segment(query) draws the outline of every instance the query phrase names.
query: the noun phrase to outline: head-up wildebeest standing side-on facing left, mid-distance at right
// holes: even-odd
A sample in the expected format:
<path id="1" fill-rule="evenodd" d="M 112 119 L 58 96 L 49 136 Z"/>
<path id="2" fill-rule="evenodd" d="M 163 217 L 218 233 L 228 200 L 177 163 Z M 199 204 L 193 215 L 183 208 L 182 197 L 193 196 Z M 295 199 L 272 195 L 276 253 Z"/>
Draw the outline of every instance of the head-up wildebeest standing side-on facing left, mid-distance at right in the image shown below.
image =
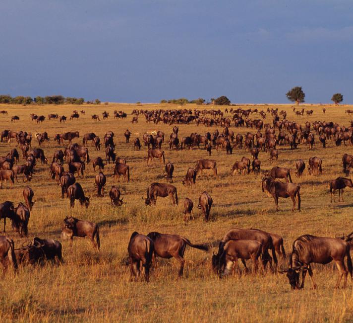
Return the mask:
<path id="1" fill-rule="evenodd" d="M 276 211 L 278 211 L 278 198 L 290 197 L 293 201 L 292 212 L 295 209 L 295 200 L 298 203 L 298 211 L 300 211 L 300 186 L 294 183 L 283 183 L 279 180 L 273 179 L 270 176 L 262 178 L 262 191 L 269 197 L 273 197 L 276 203 Z"/>

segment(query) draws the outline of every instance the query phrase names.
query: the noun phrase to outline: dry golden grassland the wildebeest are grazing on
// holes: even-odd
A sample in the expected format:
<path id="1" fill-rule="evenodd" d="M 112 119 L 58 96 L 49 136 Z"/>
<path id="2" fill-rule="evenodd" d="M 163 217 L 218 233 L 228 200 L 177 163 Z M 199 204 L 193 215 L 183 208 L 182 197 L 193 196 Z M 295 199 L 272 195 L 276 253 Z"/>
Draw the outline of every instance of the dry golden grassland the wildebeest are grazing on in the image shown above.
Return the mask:
<path id="1" fill-rule="evenodd" d="M 305 106 L 313 109 L 312 116 L 298 118 L 290 105 L 276 105 L 287 111 L 287 119 L 304 124 L 315 120 L 334 121 L 340 125 L 350 126 L 350 117 L 345 110 L 350 106 L 326 106 L 326 114 L 322 106 Z M 195 108 L 187 105 L 186 108 Z M 267 106 L 256 106 L 259 110 Z M 272 106 L 270 106 L 272 107 Z M 318 289 L 312 291 L 311 281 L 307 277 L 304 290 L 291 291 L 284 275 L 268 272 L 264 276 L 250 274 L 234 275 L 220 280 L 211 269 L 212 251 L 216 251 L 217 242 L 231 228 L 258 228 L 277 233 L 284 238 L 286 252 L 291 250 L 292 242 L 302 234 L 334 237 L 337 234 L 353 231 L 353 193 L 345 190 L 345 202 L 330 203 L 328 181 L 342 175 L 341 159 L 344 153 L 352 154 L 352 146 L 336 147 L 328 141 L 326 149 L 321 148 L 315 136 L 313 151 L 304 144 L 291 151 L 288 146 L 278 146 L 280 150 L 278 162 L 272 165 L 268 155 L 260 152 L 259 160 L 262 169 L 269 170 L 274 165 L 292 169 L 293 181 L 300 184 L 301 212 L 291 212 L 290 199 L 280 199 L 280 211 L 275 212 L 273 199 L 261 190 L 261 175 L 230 175 L 231 167 L 242 156 L 250 158 L 243 149 L 235 149 L 233 155 L 225 151 L 212 150 L 211 159 L 217 161 L 218 176 L 198 176 L 196 188 L 186 188 L 181 179 L 197 159 L 208 158 L 203 149 L 190 151 L 170 151 L 164 143 L 162 148 L 166 154 L 166 162 L 174 163 L 174 185 L 178 190 L 179 206 L 172 207 L 169 198 L 159 198 L 157 206 L 146 207 L 141 197 L 146 196 L 147 186 L 155 181 L 166 182 L 164 165 L 154 160 L 147 166 L 144 158 L 147 148 L 133 151 L 135 133 L 142 135 L 145 131 L 162 130 L 169 138 L 173 126 L 165 124 L 147 124 L 143 115 L 137 124 L 131 124 L 133 109 L 177 108 L 173 105 L 144 104 L 109 104 L 99 106 L 8 106 L 0 105 L 0 110 L 8 111 L 8 115 L 0 115 L 0 129 L 25 130 L 32 132 L 47 131 L 50 138 L 57 133 L 77 130 L 80 138 L 73 142 L 82 144 L 82 136 L 88 132 L 97 134 L 103 141 L 104 134 L 111 130 L 115 133 L 117 156 L 125 158 L 130 166 L 130 183 L 116 183 L 122 192 L 124 203 L 113 208 L 108 196 L 113 184 L 114 165 L 107 165 L 104 173 L 108 177 L 105 197 L 98 198 L 93 186 L 94 176 L 92 164 L 86 165 L 84 178 L 77 178 L 86 194 L 92 195 L 90 207 L 86 210 L 76 201 L 75 208 L 69 208 L 69 200 L 61 199 L 60 187 L 49 178 L 49 164 L 53 152 L 63 149 L 51 140 L 43 145 L 48 165 L 36 166 L 36 174 L 29 185 L 33 188 L 37 201 L 29 222 L 27 239 L 15 235 L 8 221 L 7 235 L 14 239 L 15 245 L 30 241 L 33 237 L 53 238 L 60 241 L 63 218 L 74 216 L 87 219 L 100 226 L 101 251 L 93 251 L 87 239 L 74 238 L 73 253 L 68 242 L 63 243 L 64 264 L 62 266 L 23 267 L 14 276 L 7 273 L 0 280 L 0 317 L 1 321 L 18 320 L 23 322 L 54 321 L 135 321 L 135 322 L 348 322 L 353 314 L 352 282 L 346 290 L 335 290 L 337 270 L 333 264 L 313 265 Z M 203 109 L 204 107 L 202 107 Z M 211 108 L 206 106 L 205 108 Z M 220 107 L 224 111 L 225 107 Z M 60 124 L 59 120 L 45 120 L 43 124 L 32 122 L 29 114 L 47 116 L 49 113 L 69 116 L 73 109 L 86 111 L 77 121 Z M 114 110 L 127 113 L 127 120 L 113 118 Z M 107 110 L 108 120 L 94 122 L 91 115 Z M 12 115 L 20 116 L 20 121 L 10 122 Z M 227 114 L 225 114 L 227 116 Z M 229 116 L 231 116 L 229 114 Z M 250 118 L 259 119 L 253 114 Z M 282 118 L 281 118 L 282 119 Z M 267 114 L 265 122 L 271 122 Z M 178 125 L 179 138 L 189 136 L 192 132 L 213 133 L 216 127 Z M 125 143 L 123 133 L 126 129 L 132 132 L 130 143 Z M 222 128 L 218 127 L 220 132 Z M 235 134 L 244 135 L 247 131 L 255 133 L 255 129 L 230 127 Z M 34 136 L 33 136 L 34 137 Z M 5 156 L 17 144 L 0 144 L 0 156 Z M 35 138 L 32 147 L 38 147 Z M 20 149 L 16 147 L 19 152 Z M 96 152 L 89 144 L 90 158 L 105 158 L 104 144 L 101 151 Z M 294 161 L 302 158 L 305 163 L 309 157 L 317 156 L 323 161 L 323 174 L 304 175 L 297 179 L 294 175 Z M 22 159 L 20 159 L 22 163 Z M 65 170 L 67 164 L 64 165 Z M 23 201 L 22 190 L 28 183 L 15 183 L 13 189 L 4 184 L 0 190 L 0 201 L 11 200 L 18 204 Z M 198 197 L 207 190 L 213 198 L 211 221 L 205 223 L 197 209 Z M 182 221 L 183 198 L 189 197 L 194 203 L 195 221 L 184 224 Z M 0 223 L 2 230 L 2 222 Z M 178 263 L 161 259 L 160 265 L 152 271 L 150 283 L 130 283 L 129 268 L 124 265 L 127 255 L 127 244 L 133 231 L 147 234 L 151 231 L 174 233 L 188 238 L 193 243 L 210 243 L 214 247 L 204 252 L 187 247 L 185 252 L 184 277 L 177 279 Z M 279 259 L 280 266 L 285 267 L 284 260 Z M 242 266 L 241 266 L 242 268 Z"/>

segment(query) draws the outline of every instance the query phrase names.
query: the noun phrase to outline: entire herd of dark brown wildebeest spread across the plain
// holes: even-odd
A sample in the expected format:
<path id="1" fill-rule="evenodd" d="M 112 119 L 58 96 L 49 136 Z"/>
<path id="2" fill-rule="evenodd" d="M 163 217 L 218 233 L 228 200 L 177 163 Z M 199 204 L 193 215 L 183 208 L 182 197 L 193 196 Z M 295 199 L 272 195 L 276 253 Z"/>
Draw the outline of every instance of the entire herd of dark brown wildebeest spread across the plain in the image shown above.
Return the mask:
<path id="1" fill-rule="evenodd" d="M 325 113 L 323 108 L 322 112 Z M 349 112 L 347 112 L 349 111 Z M 350 110 L 346 113 L 350 114 Z M 304 115 L 304 108 L 299 110 L 294 107 L 295 117 L 299 118 Z M 7 114 L 7 111 L 0 111 L 1 114 Z M 224 113 L 228 117 L 224 116 Z M 77 120 L 85 111 L 73 111 L 70 120 Z M 103 120 L 109 118 L 109 113 L 104 111 Z M 312 115 L 313 110 L 306 111 L 307 115 Z M 231 117 L 229 117 L 229 115 Z M 261 118 L 254 118 L 260 116 Z M 266 123 L 267 119 L 272 122 Z M 45 116 L 30 115 L 33 122 L 43 122 Z M 127 115 L 123 111 L 114 111 L 114 117 L 117 119 L 126 119 Z M 251 118 L 250 118 L 251 117 Z M 59 119 L 60 123 L 65 122 L 66 116 L 58 114 L 49 114 L 49 120 Z M 92 115 L 94 121 L 100 122 L 99 116 Z M 268 108 L 267 111 L 258 111 L 258 109 L 242 109 L 242 108 L 226 108 L 225 112 L 220 109 L 215 110 L 198 110 L 198 109 L 158 109 L 158 110 L 133 110 L 132 123 L 137 123 L 145 119 L 146 123 L 153 123 L 155 127 L 164 123 L 172 127 L 172 133 L 167 140 L 165 133 L 162 131 L 146 132 L 142 136 L 144 146 L 147 148 L 147 157 L 145 161 L 149 165 L 153 159 L 159 159 L 160 163 L 165 164 L 165 152 L 162 149 L 163 143 L 168 141 L 170 150 L 190 150 L 204 149 L 208 156 L 212 152 L 226 152 L 231 155 L 234 149 L 242 150 L 249 155 L 249 158 L 242 157 L 240 161 L 235 161 L 231 168 L 230 175 L 246 176 L 250 172 L 262 174 L 262 191 L 275 201 L 276 210 L 278 210 L 278 199 L 290 197 L 293 202 L 292 211 L 300 211 L 300 186 L 293 183 L 291 170 L 286 167 L 274 166 L 270 171 L 261 170 L 261 161 L 258 159 L 259 152 L 266 152 L 269 160 L 278 161 L 278 146 L 288 146 L 291 150 L 297 149 L 298 145 L 306 145 L 308 151 L 314 149 L 316 140 L 318 139 L 322 148 L 326 148 L 327 142 L 334 142 L 336 146 L 342 143 L 346 146 L 353 145 L 353 122 L 346 127 L 335 122 L 306 121 L 305 124 L 300 122 L 289 121 L 286 111 L 278 111 L 278 108 Z M 11 121 L 19 120 L 18 116 L 12 116 Z M 104 122 L 102 120 L 102 122 Z M 180 124 L 196 124 L 204 125 L 210 130 L 204 135 L 191 133 L 190 136 L 179 137 L 178 125 Z M 246 129 L 246 134 L 235 134 L 231 127 L 236 129 Z M 222 132 L 218 131 L 221 127 Z M 129 143 L 131 131 L 128 129 L 122 134 L 126 143 Z M 133 150 L 141 150 L 141 141 L 139 133 L 133 141 Z M 78 131 L 70 131 L 61 134 L 53 134 L 50 138 L 47 132 L 35 133 L 35 140 L 38 142 L 39 148 L 32 148 L 32 135 L 26 131 L 10 131 L 1 132 L 1 143 L 3 145 L 16 143 L 17 148 L 10 149 L 6 156 L 0 157 L 0 181 L 1 188 L 3 181 L 10 181 L 11 186 L 18 176 L 21 176 L 24 182 L 30 182 L 35 175 L 35 168 L 38 161 L 41 164 L 47 164 L 48 159 L 42 148 L 49 140 L 54 140 L 58 145 L 64 145 L 65 149 L 55 151 L 49 167 L 50 177 L 53 181 L 57 181 L 61 188 L 61 197 L 65 196 L 69 199 L 70 207 L 74 207 L 75 200 L 78 200 L 82 206 L 89 207 L 91 196 L 87 196 L 76 177 L 83 177 L 86 164 L 92 162 L 93 169 L 99 168 L 99 172 L 95 176 L 94 186 L 97 190 L 97 196 L 104 196 L 104 187 L 107 183 L 107 177 L 104 174 L 104 166 L 109 163 L 115 163 L 114 181 L 120 181 L 120 177 L 126 182 L 130 181 L 130 167 L 126 160 L 118 157 L 116 153 L 116 144 L 114 142 L 115 134 L 113 131 L 107 131 L 103 137 L 105 158 L 97 157 L 91 161 L 89 157 L 88 142 L 92 143 L 92 147 L 96 151 L 101 150 L 101 139 L 95 133 L 86 133 L 83 135 L 82 145 L 72 143 L 74 138 L 79 138 Z M 22 164 L 19 163 L 20 154 L 22 152 Z M 223 153 L 222 153 L 223 154 Z M 67 164 L 66 170 L 64 164 Z M 316 156 L 310 157 L 307 163 L 299 159 L 295 162 L 295 175 L 300 177 L 305 168 L 310 175 L 319 175 L 322 173 L 323 160 Z M 344 154 L 342 157 L 344 176 L 349 176 L 350 169 L 353 168 L 353 156 Z M 178 204 L 177 188 L 172 185 L 174 164 L 168 162 L 165 164 L 167 183 L 151 183 L 147 187 L 146 197 L 142 197 L 145 205 L 155 205 L 158 197 L 170 197 L 173 206 Z M 217 176 L 217 163 L 212 159 L 201 159 L 196 161 L 194 167 L 186 170 L 185 177 L 182 179 L 182 185 L 192 187 L 196 183 L 197 174 L 202 174 L 204 170 L 211 170 L 214 176 Z M 284 181 L 281 181 L 284 179 Z M 352 180 L 346 177 L 338 177 L 329 183 L 331 194 L 331 202 L 334 199 L 335 192 L 339 192 L 339 201 L 342 198 L 345 187 L 353 187 Z M 5 201 L 0 204 L 0 220 L 4 221 L 4 232 L 6 218 L 11 221 L 12 228 L 21 237 L 28 234 L 28 222 L 30 214 L 34 206 L 34 192 L 31 187 L 27 186 L 23 190 L 24 204 L 20 202 L 17 207 L 11 201 Z M 122 205 L 120 190 L 113 185 L 109 191 L 111 205 L 119 207 Z M 210 218 L 213 199 L 211 195 L 204 191 L 199 196 L 198 208 L 202 211 L 205 221 Z M 183 220 L 185 222 L 194 219 L 193 202 L 190 198 L 184 199 Z M 95 223 L 79 220 L 74 217 L 66 217 L 63 220 L 61 232 L 62 239 L 69 239 L 72 247 L 73 237 L 88 237 L 93 247 L 99 250 L 100 236 L 99 228 Z M 313 287 L 316 283 L 313 278 L 311 263 L 326 264 L 335 261 L 339 277 L 336 287 L 340 286 L 342 277 L 344 278 L 344 287 L 347 285 L 348 273 L 352 277 L 352 260 L 350 255 L 351 244 L 353 245 L 353 233 L 347 236 L 326 238 L 315 237 L 311 235 L 303 235 L 297 238 L 293 243 L 293 249 L 289 257 L 289 268 L 286 272 L 291 287 L 300 289 L 304 286 L 306 272 L 309 272 L 313 281 Z M 208 244 L 193 244 L 188 239 L 172 234 L 161 234 L 151 232 L 147 236 L 134 232 L 128 243 L 128 263 L 131 269 L 131 280 L 137 280 L 140 276 L 141 267 L 144 268 L 145 280 L 149 280 L 149 272 L 152 261 L 156 257 L 171 258 L 175 257 L 180 262 L 179 276 L 183 274 L 184 267 L 184 251 L 186 245 L 207 251 Z M 30 243 L 23 244 L 19 248 L 15 248 L 12 239 L 6 236 L 0 236 L 0 259 L 6 269 L 8 264 L 12 264 L 14 270 L 17 270 L 19 264 L 38 264 L 44 260 L 53 260 L 62 262 L 62 245 L 53 239 L 34 238 Z M 71 249 L 72 250 L 72 249 Z M 270 255 L 271 250 L 271 255 Z M 277 268 L 277 255 L 286 257 L 283 238 L 274 233 L 264 232 L 258 229 L 232 229 L 219 243 L 218 252 L 212 256 L 212 268 L 220 276 L 223 277 L 230 273 L 233 265 L 237 267 L 237 260 L 240 259 L 246 268 L 245 260 L 252 260 L 252 270 L 254 273 L 258 271 L 260 265 L 261 271 L 264 272 L 270 268 Z M 345 264 L 346 259 L 346 264 Z M 299 284 L 299 276 L 301 273 L 301 284 Z"/>

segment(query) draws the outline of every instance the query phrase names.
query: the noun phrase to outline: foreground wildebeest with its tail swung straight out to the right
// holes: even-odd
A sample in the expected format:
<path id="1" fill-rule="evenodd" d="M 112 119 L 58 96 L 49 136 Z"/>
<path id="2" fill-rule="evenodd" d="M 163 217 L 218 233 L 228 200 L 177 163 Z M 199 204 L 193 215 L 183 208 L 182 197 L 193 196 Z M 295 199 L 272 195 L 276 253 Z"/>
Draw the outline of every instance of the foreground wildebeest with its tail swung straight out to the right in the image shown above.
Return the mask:
<path id="1" fill-rule="evenodd" d="M 186 245 L 190 247 L 207 251 L 208 247 L 202 244 L 193 244 L 188 239 L 179 235 L 161 234 L 159 232 L 150 232 L 147 237 L 154 242 L 154 257 L 170 259 L 172 257 L 180 263 L 178 276 L 181 277 L 184 270 L 184 252 Z"/>

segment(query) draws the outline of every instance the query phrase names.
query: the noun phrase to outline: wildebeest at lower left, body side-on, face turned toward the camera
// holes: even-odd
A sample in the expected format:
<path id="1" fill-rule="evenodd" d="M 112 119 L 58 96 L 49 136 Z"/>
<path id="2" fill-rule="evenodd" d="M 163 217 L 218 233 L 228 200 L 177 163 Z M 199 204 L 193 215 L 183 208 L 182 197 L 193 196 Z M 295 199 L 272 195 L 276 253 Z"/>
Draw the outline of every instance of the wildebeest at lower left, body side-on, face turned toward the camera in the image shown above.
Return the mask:
<path id="1" fill-rule="evenodd" d="M 73 217 L 65 217 L 61 238 L 63 240 L 70 239 L 71 252 L 73 237 L 88 237 L 92 242 L 93 249 L 97 248 L 99 250 L 101 247 L 99 228 L 97 224 L 90 221 L 78 220 Z"/>

